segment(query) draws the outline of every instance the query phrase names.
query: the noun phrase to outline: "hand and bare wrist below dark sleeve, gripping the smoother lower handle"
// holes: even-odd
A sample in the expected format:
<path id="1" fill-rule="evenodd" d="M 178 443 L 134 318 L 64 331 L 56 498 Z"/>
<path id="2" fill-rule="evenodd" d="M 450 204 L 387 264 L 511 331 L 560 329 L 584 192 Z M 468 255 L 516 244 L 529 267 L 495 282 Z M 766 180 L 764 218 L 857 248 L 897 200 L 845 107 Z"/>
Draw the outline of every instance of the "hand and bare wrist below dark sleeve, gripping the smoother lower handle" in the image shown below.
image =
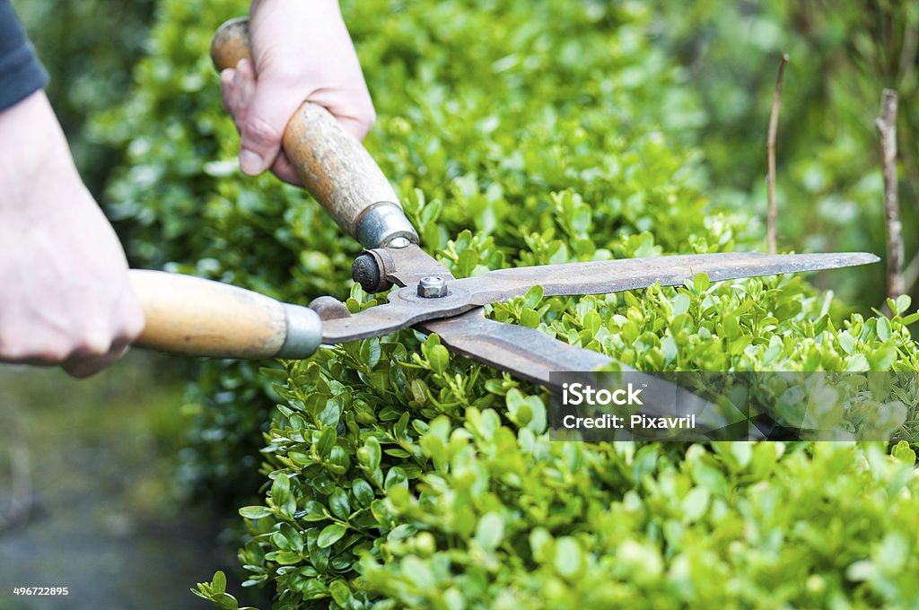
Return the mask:
<path id="1" fill-rule="evenodd" d="M 143 330 L 118 237 L 43 92 L 0 112 L 0 361 L 87 377 Z"/>

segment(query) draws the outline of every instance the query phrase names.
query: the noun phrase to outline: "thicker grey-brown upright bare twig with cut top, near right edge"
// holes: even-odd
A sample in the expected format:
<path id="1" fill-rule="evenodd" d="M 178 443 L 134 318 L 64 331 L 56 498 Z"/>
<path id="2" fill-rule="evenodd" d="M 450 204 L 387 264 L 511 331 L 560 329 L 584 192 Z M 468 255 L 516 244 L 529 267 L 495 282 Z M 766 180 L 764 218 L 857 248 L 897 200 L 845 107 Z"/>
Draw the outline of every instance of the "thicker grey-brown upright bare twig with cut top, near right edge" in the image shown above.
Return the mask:
<path id="1" fill-rule="evenodd" d="M 897 201 L 897 92 L 884 89 L 880 116 L 875 120 L 884 159 L 884 223 L 887 229 L 887 296 L 896 299 L 903 288 L 903 238 Z"/>

